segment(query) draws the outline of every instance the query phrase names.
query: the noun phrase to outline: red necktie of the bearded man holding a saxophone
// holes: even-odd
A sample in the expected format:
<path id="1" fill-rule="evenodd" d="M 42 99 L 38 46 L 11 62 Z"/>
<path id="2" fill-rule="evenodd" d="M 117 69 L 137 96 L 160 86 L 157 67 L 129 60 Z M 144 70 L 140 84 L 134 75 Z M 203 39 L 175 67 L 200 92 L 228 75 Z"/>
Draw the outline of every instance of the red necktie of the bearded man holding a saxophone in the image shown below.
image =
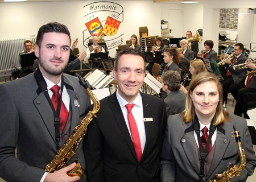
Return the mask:
<path id="1" fill-rule="evenodd" d="M 54 85 L 51 88 L 53 95 L 52 95 L 52 104 L 54 106 L 55 111 L 57 110 L 57 104 L 60 98 L 60 87 L 58 85 Z M 60 130 L 63 131 L 64 127 L 67 123 L 68 120 L 68 110 L 65 107 L 63 101 L 61 101 L 61 106 L 60 106 Z"/>

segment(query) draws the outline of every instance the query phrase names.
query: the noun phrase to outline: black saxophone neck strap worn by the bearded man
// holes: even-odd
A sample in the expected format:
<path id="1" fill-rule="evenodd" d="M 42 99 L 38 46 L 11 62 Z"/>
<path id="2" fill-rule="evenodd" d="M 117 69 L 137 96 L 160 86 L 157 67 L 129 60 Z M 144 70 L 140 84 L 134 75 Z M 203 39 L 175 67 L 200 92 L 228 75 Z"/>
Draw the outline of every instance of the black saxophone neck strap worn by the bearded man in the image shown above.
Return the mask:
<path id="1" fill-rule="evenodd" d="M 61 106 L 61 99 L 62 99 L 62 92 L 63 92 L 63 87 L 64 87 L 64 77 L 61 75 L 61 82 L 60 82 L 60 97 L 57 103 L 57 108 L 55 110 L 51 98 L 49 97 L 48 94 L 48 89 L 47 89 L 47 84 L 46 80 L 44 80 L 44 77 L 42 73 L 40 72 L 40 69 L 36 69 L 35 71 L 35 79 L 36 82 L 38 83 L 39 89 L 42 90 L 44 93 L 44 96 L 47 98 L 47 101 L 49 102 L 49 105 L 51 106 L 51 109 L 53 111 L 54 115 L 54 127 L 55 127 L 55 139 L 57 142 L 57 149 L 59 150 L 60 148 L 60 106 Z"/>

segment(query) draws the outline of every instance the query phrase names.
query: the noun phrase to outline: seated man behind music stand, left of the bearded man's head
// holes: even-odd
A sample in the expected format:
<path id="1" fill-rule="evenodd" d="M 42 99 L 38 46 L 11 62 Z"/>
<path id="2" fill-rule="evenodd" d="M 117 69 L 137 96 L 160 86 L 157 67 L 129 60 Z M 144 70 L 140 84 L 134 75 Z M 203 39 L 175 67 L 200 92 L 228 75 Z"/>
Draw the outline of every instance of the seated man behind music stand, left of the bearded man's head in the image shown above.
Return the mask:
<path id="1" fill-rule="evenodd" d="M 24 41 L 24 49 L 19 55 L 22 55 L 24 53 L 31 53 L 31 52 L 34 52 L 34 49 L 32 49 L 32 40 L 27 39 L 27 40 Z M 21 64 L 20 57 L 19 57 L 19 64 Z M 33 65 L 31 65 L 29 67 L 22 67 L 20 69 L 19 76 L 24 77 L 24 76 L 26 76 L 26 75 L 28 75 L 32 72 L 34 72 L 33 71 Z"/>

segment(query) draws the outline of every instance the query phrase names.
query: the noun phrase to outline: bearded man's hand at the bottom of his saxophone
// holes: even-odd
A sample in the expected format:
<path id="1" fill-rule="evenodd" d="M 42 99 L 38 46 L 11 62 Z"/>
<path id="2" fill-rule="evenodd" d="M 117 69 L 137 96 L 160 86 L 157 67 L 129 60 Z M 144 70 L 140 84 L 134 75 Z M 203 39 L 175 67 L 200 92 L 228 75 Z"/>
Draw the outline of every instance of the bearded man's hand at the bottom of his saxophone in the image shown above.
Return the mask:
<path id="1" fill-rule="evenodd" d="M 78 181 L 81 179 L 80 176 L 68 176 L 67 172 L 71 171 L 73 168 L 75 168 L 76 163 L 72 163 L 69 166 L 60 169 L 59 171 L 53 172 L 53 173 L 48 173 L 46 175 L 46 178 L 44 179 L 44 182 L 73 182 L 73 181 Z"/>

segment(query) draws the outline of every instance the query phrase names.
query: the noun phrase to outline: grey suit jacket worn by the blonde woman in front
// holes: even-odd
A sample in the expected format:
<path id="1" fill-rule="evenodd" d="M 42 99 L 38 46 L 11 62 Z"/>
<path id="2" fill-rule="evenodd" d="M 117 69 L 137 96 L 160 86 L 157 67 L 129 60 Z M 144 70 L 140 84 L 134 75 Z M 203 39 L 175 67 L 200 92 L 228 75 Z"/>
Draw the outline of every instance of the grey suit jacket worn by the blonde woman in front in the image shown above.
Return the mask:
<path id="1" fill-rule="evenodd" d="M 245 119 L 231 114 L 231 122 L 217 126 L 215 151 L 206 181 L 214 179 L 216 174 L 223 173 L 230 164 L 239 164 L 238 146 L 232 138 L 233 125 L 240 131 L 242 148 L 246 155 L 246 168 L 240 177 L 231 181 L 244 182 L 254 172 L 256 166 L 255 152 Z M 161 162 L 161 181 L 199 181 L 200 166 L 196 158 L 195 137 L 192 122 L 184 123 L 179 115 L 168 117 L 166 136 L 164 138 Z"/>

